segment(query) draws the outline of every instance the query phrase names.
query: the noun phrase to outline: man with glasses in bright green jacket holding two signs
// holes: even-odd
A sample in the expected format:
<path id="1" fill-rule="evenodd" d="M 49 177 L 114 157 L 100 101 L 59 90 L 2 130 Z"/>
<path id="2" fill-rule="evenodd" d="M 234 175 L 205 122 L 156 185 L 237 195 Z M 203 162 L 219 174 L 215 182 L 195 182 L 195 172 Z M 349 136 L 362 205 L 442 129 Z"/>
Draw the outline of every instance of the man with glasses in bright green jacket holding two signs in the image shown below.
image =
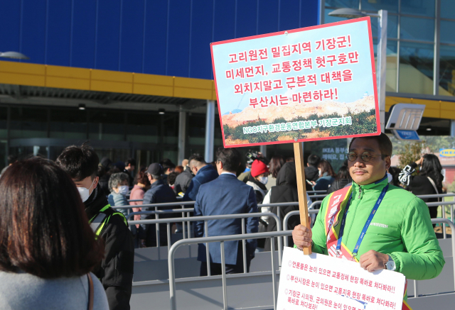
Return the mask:
<path id="1" fill-rule="evenodd" d="M 312 231 L 294 228 L 296 248 L 344 256 L 369 272 L 388 269 L 417 280 L 437 277 L 445 261 L 428 206 L 387 184 L 390 155 L 392 143 L 384 133 L 353 138 L 347 155 L 353 186 L 322 201 Z"/>

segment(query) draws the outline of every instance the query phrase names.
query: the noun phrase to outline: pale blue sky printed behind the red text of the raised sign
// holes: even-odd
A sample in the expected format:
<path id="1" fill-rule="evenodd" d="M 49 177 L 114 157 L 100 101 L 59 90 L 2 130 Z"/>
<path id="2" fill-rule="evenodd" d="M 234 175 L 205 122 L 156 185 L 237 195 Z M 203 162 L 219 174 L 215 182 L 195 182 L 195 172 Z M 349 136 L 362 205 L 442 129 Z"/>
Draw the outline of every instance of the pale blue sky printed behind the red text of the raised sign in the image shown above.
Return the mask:
<path id="1" fill-rule="evenodd" d="M 325 51 L 319 49 L 316 50 L 316 41 L 321 38 L 337 38 L 343 35 L 350 35 L 351 47 L 349 48 L 336 48 L 334 50 Z M 273 58 L 271 48 L 274 46 L 283 46 L 283 45 L 293 45 L 296 43 L 303 43 L 311 41 L 311 53 L 302 52 L 301 55 L 298 53 L 291 54 L 287 57 Z M 236 62 L 230 64 L 229 60 L 230 54 L 238 53 L 242 51 L 267 48 L 268 60 L 257 60 L 254 62 Z M 358 60 L 356 64 L 348 65 L 333 65 L 330 67 L 328 64 L 326 67 L 317 68 L 316 57 L 320 55 L 338 55 L 341 52 L 348 55 L 348 52 L 358 51 Z M 338 88 L 338 102 L 340 103 L 350 103 L 360 99 L 365 92 L 373 95 L 373 77 L 372 77 L 372 66 L 371 66 L 371 55 L 370 55 L 370 41 L 368 37 L 368 23 L 367 21 L 359 21 L 355 23 L 346 23 L 343 25 L 332 26 L 314 29 L 311 31 L 301 31 L 298 33 L 289 33 L 288 35 L 274 35 L 266 38 L 257 38 L 254 40 L 244 40 L 233 43 L 225 43 L 220 45 L 213 45 L 213 57 L 215 62 L 215 74 L 218 86 L 218 96 L 221 113 L 225 114 L 226 112 L 232 111 L 234 109 L 245 109 L 250 104 L 251 97 L 259 96 L 271 96 L 276 94 L 286 94 L 288 97 L 292 93 L 296 92 L 307 92 L 317 89 L 330 89 L 337 87 Z M 275 73 L 272 74 L 272 64 L 283 61 L 299 60 L 303 58 L 311 57 L 313 61 L 313 69 L 302 68 L 299 72 L 288 73 Z M 259 66 L 264 65 L 264 71 L 267 72 L 267 76 L 262 77 L 261 75 L 250 77 L 250 78 L 236 78 L 234 80 L 226 78 L 226 71 L 240 67 L 249 67 L 249 66 Z M 335 70 L 346 70 L 350 69 L 353 72 L 353 81 L 351 82 L 332 82 L 331 84 L 321 83 L 321 74 L 325 72 L 331 72 Z M 287 89 L 285 86 L 286 77 L 296 77 L 301 76 L 302 74 L 314 74 L 318 77 L 317 85 L 306 84 L 306 87 L 296 87 L 292 90 Z M 271 92 L 259 92 L 250 94 L 249 92 L 245 94 L 234 94 L 235 84 L 245 83 L 245 82 L 259 82 L 268 79 L 282 79 L 283 89 L 272 90 Z M 264 108 L 267 109 L 267 108 Z"/>

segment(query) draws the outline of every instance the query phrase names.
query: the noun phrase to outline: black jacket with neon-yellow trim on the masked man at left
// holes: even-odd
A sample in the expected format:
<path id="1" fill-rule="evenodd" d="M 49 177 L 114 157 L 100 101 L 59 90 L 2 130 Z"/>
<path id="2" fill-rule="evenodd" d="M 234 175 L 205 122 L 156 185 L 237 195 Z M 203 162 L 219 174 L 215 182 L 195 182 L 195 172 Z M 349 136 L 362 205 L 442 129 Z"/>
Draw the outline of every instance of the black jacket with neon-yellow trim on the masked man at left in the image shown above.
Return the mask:
<path id="1" fill-rule="evenodd" d="M 100 184 L 84 204 L 90 221 L 107 207 L 103 210 L 107 215 L 107 224 L 99 234 L 105 240 L 105 258 L 93 273 L 105 287 L 109 309 L 129 309 L 134 273 L 134 241 L 127 219 L 110 207 Z"/>

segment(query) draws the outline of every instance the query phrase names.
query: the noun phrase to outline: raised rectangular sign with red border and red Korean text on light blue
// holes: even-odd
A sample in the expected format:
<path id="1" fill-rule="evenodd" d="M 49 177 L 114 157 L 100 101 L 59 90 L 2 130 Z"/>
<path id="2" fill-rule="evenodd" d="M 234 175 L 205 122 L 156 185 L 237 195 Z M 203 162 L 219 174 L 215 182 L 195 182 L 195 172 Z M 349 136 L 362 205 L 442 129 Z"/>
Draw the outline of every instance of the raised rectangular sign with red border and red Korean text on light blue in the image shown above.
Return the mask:
<path id="1" fill-rule="evenodd" d="M 211 50 L 227 148 L 380 133 L 369 17 Z"/>

